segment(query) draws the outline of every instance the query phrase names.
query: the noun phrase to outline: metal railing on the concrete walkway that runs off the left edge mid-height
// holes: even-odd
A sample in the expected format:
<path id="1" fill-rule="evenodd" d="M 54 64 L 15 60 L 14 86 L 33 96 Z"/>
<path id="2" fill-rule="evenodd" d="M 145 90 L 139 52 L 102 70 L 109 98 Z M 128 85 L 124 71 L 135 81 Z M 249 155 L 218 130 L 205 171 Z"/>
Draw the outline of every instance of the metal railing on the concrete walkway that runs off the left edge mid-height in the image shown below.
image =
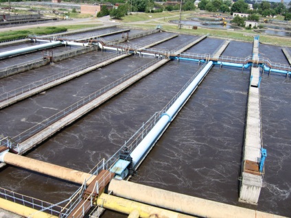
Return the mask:
<path id="1" fill-rule="evenodd" d="M 20 88 L 10 90 L 9 92 L 3 93 L 0 95 L 0 102 L 1 101 L 8 101 L 8 99 L 10 99 L 10 98 L 16 97 L 18 95 L 22 95 L 23 93 L 27 93 L 30 90 L 33 90 L 33 89 L 38 88 L 40 86 L 44 86 L 45 84 L 49 84 L 49 83 L 54 82 L 56 80 L 60 80 L 62 77 L 66 77 L 68 75 L 71 75 L 73 73 L 76 73 L 78 71 L 86 69 L 86 68 L 93 66 L 95 64 L 99 64 L 99 63 L 104 62 L 106 60 L 110 60 L 110 59 L 115 58 L 117 56 L 120 56 L 120 54 L 114 53 L 114 54 L 111 54 L 109 56 L 105 56 L 105 57 L 100 58 L 97 62 L 95 60 L 91 61 L 91 62 L 86 62 L 85 64 L 82 64 L 80 66 L 76 66 L 72 69 L 68 69 L 67 71 L 62 71 L 61 73 L 56 73 L 56 74 L 51 75 L 49 77 L 46 77 L 42 80 L 38 80 L 36 82 L 32 82 L 31 84 L 27 84 L 26 86 L 22 86 Z"/>

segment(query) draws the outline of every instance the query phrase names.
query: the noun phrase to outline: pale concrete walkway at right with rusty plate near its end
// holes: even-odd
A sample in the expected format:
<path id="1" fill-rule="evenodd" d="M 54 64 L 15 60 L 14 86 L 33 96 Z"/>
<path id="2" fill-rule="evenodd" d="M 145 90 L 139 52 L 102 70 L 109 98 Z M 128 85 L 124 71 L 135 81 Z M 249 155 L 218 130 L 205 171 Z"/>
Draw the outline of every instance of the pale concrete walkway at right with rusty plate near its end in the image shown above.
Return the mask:
<path id="1" fill-rule="evenodd" d="M 259 61 L 259 39 L 254 39 L 253 61 Z M 255 64 L 257 65 L 257 64 Z M 261 162 L 261 103 L 259 95 L 259 67 L 251 67 L 251 84 L 248 90 L 244 154 L 242 160 L 242 184 L 240 202 L 257 204 L 263 186 L 263 172 L 259 171 Z M 263 169 L 264 170 L 264 169 Z"/>

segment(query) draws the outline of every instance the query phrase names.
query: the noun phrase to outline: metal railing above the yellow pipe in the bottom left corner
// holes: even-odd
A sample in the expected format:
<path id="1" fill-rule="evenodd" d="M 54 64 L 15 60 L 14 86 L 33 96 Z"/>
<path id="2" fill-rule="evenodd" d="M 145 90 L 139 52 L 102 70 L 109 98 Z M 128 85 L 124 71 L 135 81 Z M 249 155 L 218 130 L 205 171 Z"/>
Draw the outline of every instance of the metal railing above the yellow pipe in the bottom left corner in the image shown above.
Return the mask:
<path id="1" fill-rule="evenodd" d="M 58 215 L 62 210 L 62 207 L 59 205 L 67 201 L 66 199 L 65 201 L 59 202 L 58 204 L 51 204 L 49 202 L 45 202 L 27 195 L 21 195 L 20 193 L 15 193 L 3 188 L 0 188 L 0 197 L 14 203 L 22 204 L 23 206 L 34 208 L 35 210 L 49 213 L 50 215 Z"/>

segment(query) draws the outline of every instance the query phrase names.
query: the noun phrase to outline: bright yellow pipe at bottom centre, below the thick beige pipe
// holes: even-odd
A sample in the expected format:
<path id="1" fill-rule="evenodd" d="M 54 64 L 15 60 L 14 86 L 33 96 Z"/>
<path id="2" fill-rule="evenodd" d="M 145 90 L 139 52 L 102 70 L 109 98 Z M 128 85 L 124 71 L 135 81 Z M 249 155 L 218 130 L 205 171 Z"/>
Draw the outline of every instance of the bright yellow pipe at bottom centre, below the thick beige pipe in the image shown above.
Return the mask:
<path id="1" fill-rule="evenodd" d="M 98 197 L 97 205 L 125 214 L 130 214 L 132 210 L 137 210 L 139 212 L 139 217 L 141 218 L 148 218 L 150 216 L 153 217 L 153 215 L 157 215 L 157 217 L 163 218 L 190 218 L 188 215 L 183 215 L 162 208 L 156 208 L 154 206 L 141 204 L 139 202 L 133 202 L 128 199 L 115 197 L 113 195 L 107 195 L 104 193 Z"/>

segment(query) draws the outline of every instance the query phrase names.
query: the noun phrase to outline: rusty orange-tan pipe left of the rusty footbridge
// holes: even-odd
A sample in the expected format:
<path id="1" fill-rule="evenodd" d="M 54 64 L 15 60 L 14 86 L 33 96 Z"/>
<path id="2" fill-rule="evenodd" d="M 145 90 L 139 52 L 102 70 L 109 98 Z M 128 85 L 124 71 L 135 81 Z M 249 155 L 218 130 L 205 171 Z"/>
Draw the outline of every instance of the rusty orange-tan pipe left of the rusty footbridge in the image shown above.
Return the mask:
<path id="1" fill-rule="evenodd" d="M 53 165 L 48 162 L 43 162 L 40 160 L 34 160 L 32 158 L 27 158 L 25 156 L 12 154 L 10 152 L 3 154 L 3 162 L 16 167 L 21 167 L 24 169 L 30 169 L 32 171 L 43 173 L 45 175 L 51 175 L 62 180 L 67 180 L 70 182 L 75 182 L 78 184 L 83 184 L 85 179 L 90 178 L 91 174 L 84 173 L 81 171 L 69 169 L 66 167 L 60 167 L 58 165 Z M 86 183 L 89 185 L 95 178 L 95 175 Z"/>

